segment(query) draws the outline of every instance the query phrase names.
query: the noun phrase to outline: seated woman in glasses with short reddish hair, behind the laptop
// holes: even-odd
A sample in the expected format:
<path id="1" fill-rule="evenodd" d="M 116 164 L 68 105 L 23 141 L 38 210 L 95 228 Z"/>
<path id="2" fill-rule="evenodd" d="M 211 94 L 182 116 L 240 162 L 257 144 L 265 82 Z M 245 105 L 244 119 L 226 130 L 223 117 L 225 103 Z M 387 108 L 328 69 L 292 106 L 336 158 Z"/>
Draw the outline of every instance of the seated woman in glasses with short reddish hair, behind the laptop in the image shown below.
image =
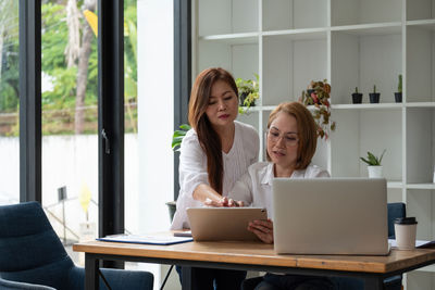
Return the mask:
<path id="1" fill-rule="evenodd" d="M 273 243 L 272 180 L 275 177 L 330 177 L 311 164 L 318 143 L 316 125 L 308 109 L 299 102 L 281 103 L 269 116 L 268 162 L 256 163 L 231 190 L 228 198 L 245 205 L 265 207 L 268 220 L 252 220 L 248 230 L 263 242 Z M 334 289 L 328 278 L 268 273 L 256 290 Z"/>

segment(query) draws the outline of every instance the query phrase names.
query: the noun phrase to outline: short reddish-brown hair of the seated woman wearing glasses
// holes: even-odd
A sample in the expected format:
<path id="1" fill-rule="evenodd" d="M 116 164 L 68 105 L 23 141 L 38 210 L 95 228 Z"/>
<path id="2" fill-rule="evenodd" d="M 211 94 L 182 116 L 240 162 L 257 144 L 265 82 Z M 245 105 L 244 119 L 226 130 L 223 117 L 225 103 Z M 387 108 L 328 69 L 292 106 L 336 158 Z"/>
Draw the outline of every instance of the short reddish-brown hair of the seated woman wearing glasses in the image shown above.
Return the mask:
<path id="1" fill-rule="evenodd" d="M 295 169 L 304 169 L 311 163 L 318 146 L 318 126 L 308 109 L 299 102 L 281 103 L 269 116 L 268 129 L 279 112 L 285 112 L 296 118 L 298 124 L 298 157 Z M 268 160 L 271 161 L 266 152 Z"/>

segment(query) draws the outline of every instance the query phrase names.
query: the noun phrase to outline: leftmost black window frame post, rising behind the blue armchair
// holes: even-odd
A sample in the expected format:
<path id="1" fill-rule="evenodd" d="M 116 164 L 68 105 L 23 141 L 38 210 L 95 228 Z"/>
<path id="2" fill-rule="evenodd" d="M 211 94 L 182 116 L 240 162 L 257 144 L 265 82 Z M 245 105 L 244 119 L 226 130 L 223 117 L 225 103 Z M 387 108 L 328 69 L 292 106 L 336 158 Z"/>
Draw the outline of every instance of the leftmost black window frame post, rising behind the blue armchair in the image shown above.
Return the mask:
<path id="1" fill-rule="evenodd" d="M 20 0 L 20 202 L 41 196 L 41 0 Z"/>

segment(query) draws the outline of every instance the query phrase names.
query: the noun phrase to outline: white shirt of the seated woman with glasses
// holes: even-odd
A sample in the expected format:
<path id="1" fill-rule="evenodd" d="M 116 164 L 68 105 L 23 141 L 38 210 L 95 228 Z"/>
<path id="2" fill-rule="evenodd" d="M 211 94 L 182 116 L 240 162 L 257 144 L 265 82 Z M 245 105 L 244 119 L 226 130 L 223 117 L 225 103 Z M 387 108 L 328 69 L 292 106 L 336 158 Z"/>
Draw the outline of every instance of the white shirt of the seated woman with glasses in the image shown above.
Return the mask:
<path id="1" fill-rule="evenodd" d="M 306 169 L 295 171 L 290 178 L 330 177 L 327 171 L 316 165 L 309 165 Z M 228 198 L 244 201 L 245 205 L 265 207 L 269 218 L 273 216 L 272 209 L 272 179 L 273 163 L 258 162 L 249 166 L 248 172 L 235 184 Z"/>

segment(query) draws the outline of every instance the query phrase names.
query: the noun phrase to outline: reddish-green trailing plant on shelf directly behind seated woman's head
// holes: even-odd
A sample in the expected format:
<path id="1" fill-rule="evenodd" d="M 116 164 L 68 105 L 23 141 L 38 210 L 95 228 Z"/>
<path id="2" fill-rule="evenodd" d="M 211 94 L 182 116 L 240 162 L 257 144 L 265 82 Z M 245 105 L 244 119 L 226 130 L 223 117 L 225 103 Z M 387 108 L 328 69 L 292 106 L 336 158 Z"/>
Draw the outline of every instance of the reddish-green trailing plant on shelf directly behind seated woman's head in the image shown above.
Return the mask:
<path id="1" fill-rule="evenodd" d="M 331 119 L 331 104 L 330 104 L 331 85 L 326 79 L 313 81 L 311 80 L 307 91 L 302 91 L 299 102 L 306 106 L 311 106 L 310 111 L 318 125 L 318 136 L 327 139 L 331 131 L 335 130 L 336 124 Z"/>

